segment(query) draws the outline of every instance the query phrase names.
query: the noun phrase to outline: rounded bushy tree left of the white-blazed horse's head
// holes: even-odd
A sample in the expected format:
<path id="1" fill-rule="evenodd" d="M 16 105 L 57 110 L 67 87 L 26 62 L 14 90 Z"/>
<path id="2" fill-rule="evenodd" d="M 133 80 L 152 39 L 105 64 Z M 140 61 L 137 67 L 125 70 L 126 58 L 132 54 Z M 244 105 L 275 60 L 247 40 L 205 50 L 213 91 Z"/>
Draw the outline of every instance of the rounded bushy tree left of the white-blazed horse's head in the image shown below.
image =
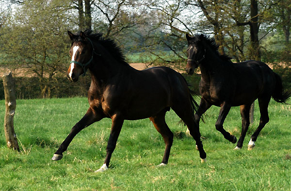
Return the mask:
<path id="1" fill-rule="evenodd" d="M 27 68 L 27 75 L 35 75 L 43 97 L 50 97 L 53 78 L 65 70 L 69 45 L 66 9 L 62 0 L 27 0 L 0 29 L 2 59 L 9 60 L 10 69 Z"/>

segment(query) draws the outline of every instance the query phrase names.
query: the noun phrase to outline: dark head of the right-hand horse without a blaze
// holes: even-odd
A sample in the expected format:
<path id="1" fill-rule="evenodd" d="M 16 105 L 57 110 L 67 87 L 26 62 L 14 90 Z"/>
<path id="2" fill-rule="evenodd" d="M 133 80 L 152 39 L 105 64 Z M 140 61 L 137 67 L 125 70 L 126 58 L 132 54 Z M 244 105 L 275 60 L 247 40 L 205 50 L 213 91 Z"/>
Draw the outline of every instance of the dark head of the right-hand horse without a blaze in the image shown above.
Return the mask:
<path id="1" fill-rule="evenodd" d="M 191 37 L 188 33 L 186 34 L 186 39 L 188 41 L 186 72 L 192 75 L 194 74 L 194 69 L 205 58 L 205 48 L 197 41 L 196 37 Z"/>

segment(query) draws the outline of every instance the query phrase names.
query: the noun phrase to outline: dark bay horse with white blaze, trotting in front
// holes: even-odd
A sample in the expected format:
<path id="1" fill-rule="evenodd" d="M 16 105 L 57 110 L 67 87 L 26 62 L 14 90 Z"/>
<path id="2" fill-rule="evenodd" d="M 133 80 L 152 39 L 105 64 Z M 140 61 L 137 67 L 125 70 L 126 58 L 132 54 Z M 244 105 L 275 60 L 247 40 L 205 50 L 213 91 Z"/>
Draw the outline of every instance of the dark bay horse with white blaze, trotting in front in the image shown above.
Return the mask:
<path id="1" fill-rule="evenodd" d="M 165 113 L 170 108 L 187 125 L 198 146 L 201 161 L 206 159 L 199 127 L 194 122 L 198 104 L 181 74 L 168 67 L 153 67 L 142 71 L 132 68 L 125 62 L 121 49 L 113 40 L 102 38 L 100 33 L 91 34 L 91 31 L 86 30 L 68 34 L 72 46 L 67 75 L 69 80 L 77 81 L 89 69 L 92 77 L 88 91 L 89 109 L 71 129 L 55 152 L 53 160 L 63 158 L 63 152 L 83 128 L 106 117 L 112 119 L 112 127 L 104 164 L 96 172 L 107 170 L 124 120 L 149 118 L 165 142 L 160 166 L 165 165 L 174 136 L 165 122 Z"/>

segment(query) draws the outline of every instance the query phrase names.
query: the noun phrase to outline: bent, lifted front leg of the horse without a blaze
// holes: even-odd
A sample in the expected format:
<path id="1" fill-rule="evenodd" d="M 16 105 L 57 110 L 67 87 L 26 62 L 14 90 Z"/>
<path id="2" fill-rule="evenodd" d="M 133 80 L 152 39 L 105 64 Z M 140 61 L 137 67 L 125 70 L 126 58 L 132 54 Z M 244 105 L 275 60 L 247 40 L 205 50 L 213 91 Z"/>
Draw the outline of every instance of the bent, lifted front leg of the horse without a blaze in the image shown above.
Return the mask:
<path id="1" fill-rule="evenodd" d="M 219 132 L 221 132 L 223 134 L 225 139 L 227 139 L 231 143 L 236 143 L 237 142 L 237 138 L 234 135 L 230 135 L 230 133 L 227 132 L 223 128 L 223 123 L 224 123 L 224 121 L 226 119 L 226 115 L 228 114 L 230 108 L 231 108 L 230 104 L 228 104 L 226 102 L 224 102 L 221 105 L 221 109 L 219 111 L 219 116 L 218 116 L 218 119 L 217 119 L 217 121 L 215 123 L 215 127 L 216 127 L 216 130 L 218 130 Z"/>

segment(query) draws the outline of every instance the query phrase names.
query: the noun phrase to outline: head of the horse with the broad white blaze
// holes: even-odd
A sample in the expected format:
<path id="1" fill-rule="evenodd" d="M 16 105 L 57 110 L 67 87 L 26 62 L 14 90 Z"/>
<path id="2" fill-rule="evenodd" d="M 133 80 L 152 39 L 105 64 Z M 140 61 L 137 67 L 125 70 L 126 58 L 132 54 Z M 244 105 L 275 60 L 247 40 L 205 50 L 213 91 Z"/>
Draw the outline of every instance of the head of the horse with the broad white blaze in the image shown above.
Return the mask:
<path id="1" fill-rule="evenodd" d="M 86 32 L 86 31 L 85 31 Z M 79 76 L 85 76 L 85 73 L 93 60 L 94 48 L 91 40 L 85 32 L 75 35 L 68 31 L 72 41 L 70 48 L 71 62 L 67 71 L 67 77 L 71 81 L 78 81 Z"/>

